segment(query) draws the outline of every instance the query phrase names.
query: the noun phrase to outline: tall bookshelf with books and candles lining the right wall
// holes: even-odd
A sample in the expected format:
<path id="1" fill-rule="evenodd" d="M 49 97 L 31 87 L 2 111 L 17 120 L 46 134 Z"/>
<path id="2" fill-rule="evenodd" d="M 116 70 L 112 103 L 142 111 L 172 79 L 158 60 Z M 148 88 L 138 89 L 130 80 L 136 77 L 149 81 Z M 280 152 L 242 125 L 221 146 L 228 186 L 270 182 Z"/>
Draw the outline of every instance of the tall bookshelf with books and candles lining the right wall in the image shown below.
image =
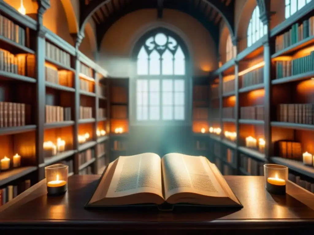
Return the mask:
<path id="1" fill-rule="evenodd" d="M 223 174 L 263 175 L 265 163 L 276 163 L 314 192 L 314 167 L 302 162 L 314 153 L 312 15 L 302 9 L 211 74 L 209 150 Z"/>

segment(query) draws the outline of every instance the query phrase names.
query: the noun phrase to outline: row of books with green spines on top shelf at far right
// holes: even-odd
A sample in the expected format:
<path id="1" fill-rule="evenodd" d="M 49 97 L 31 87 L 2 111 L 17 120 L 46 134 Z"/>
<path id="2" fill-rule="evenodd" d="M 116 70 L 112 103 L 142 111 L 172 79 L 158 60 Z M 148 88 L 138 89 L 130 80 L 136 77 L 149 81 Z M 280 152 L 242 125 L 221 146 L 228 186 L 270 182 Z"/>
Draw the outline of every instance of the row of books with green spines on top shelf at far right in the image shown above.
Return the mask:
<path id="1" fill-rule="evenodd" d="M 314 16 L 304 20 L 300 25 L 298 23 L 293 24 L 289 31 L 277 36 L 275 40 L 275 50 L 278 52 L 313 35 Z"/>

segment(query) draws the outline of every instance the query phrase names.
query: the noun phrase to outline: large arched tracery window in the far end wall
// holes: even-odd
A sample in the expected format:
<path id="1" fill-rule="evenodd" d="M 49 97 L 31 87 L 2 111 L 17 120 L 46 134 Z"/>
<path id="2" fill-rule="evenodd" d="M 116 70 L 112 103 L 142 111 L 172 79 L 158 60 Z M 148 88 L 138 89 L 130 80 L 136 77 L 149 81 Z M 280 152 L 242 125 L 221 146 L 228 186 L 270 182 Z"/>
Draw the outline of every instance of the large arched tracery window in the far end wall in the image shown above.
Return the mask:
<path id="1" fill-rule="evenodd" d="M 185 120 L 186 56 L 167 30 L 155 30 L 137 55 L 137 121 Z"/>

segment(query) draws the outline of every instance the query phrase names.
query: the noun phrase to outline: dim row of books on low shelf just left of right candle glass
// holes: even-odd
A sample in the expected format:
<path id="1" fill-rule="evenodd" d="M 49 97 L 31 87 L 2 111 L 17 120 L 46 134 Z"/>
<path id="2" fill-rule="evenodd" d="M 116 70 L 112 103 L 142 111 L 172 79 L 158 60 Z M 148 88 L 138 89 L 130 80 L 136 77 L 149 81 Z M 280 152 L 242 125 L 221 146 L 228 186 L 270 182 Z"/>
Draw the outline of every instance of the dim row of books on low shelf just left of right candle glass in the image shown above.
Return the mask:
<path id="1" fill-rule="evenodd" d="M 240 154 L 240 167 L 249 175 L 264 175 L 264 162 L 256 161 L 245 154 Z"/>

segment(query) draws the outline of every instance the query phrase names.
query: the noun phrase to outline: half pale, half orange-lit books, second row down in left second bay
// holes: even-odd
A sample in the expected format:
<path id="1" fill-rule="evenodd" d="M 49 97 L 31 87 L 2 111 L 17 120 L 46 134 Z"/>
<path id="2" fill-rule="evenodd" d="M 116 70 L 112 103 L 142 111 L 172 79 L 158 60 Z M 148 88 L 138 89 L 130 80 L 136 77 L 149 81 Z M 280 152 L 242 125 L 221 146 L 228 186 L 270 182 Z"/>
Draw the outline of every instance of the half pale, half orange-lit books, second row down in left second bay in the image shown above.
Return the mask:
<path id="1" fill-rule="evenodd" d="M 57 70 L 45 66 L 45 80 L 61 86 L 73 87 L 73 73 L 68 70 Z"/>

